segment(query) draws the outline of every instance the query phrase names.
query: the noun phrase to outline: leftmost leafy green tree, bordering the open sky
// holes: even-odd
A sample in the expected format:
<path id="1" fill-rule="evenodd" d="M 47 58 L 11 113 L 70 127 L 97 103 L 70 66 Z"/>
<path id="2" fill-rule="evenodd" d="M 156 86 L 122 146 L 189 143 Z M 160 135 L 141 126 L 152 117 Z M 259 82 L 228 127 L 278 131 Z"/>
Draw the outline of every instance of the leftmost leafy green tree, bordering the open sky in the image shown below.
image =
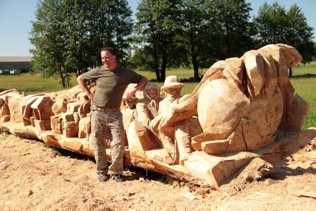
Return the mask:
<path id="1" fill-rule="evenodd" d="M 63 87 L 69 85 L 70 73 L 65 68 L 66 50 L 64 5 L 62 0 L 43 0 L 37 5 L 37 21 L 32 22 L 31 43 L 36 47 L 33 54 L 33 70 L 42 78 L 60 79 Z"/>

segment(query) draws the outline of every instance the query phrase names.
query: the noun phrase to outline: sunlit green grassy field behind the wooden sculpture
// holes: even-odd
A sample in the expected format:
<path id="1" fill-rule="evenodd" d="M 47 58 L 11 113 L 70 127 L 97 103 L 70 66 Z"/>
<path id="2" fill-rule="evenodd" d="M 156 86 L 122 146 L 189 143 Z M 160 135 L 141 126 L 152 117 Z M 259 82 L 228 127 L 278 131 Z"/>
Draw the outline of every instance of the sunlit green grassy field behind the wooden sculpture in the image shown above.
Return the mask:
<path id="1" fill-rule="evenodd" d="M 203 69 L 205 73 L 207 69 Z M 293 76 L 290 81 L 295 88 L 295 93 L 298 93 L 303 99 L 305 99 L 310 105 L 310 111 L 306 118 L 303 129 L 308 127 L 316 127 L 316 62 L 310 64 L 296 65 L 292 67 Z M 139 72 L 141 75 L 148 79 L 155 79 L 154 73 Z M 193 70 L 188 69 L 171 69 L 166 71 L 166 76 L 176 75 L 181 79 L 188 79 L 193 77 Z M 76 77 L 72 78 L 71 84 L 77 85 Z M 185 83 L 181 94 L 191 93 L 198 83 Z M 161 87 L 163 83 L 158 83 Z M 54 79 L 41 80 L 40 76 L 36 75 L 0 75 L 0 91 L 15 88 L 18 91 L 24 91 L 25 94 L 35 94 L 42 92 L 54 92 L 63 90 L 61 84 Z"/>

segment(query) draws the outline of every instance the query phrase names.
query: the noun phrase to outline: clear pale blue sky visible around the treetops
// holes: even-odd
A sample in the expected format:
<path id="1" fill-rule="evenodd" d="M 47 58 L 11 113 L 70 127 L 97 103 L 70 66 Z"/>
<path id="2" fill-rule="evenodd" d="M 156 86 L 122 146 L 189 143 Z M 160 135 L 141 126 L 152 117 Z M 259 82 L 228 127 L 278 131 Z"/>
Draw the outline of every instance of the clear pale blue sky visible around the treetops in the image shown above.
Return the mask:
<path id="1" fill-rule="evenodd" d="M 246 0 L 253 9 L 251 17 L 258 14 L 258 8 L 265 0 Z M 266 0 L 269 4 L 276 0 Z M 288 10 L 296 3 L 305 14 L 309 26 L 314 28 L 316 37 L 316 0 L 277 0 Z M 138 0 L 128 0 L 135 12 Z M 30 21 L 35 21 L 37 0 L 0 0 L 0 56 L 32 56 L 30 48 L 34 48 L 29 41 L 32 29 Z M 316 38 L 314 38 L 316 42 Z"/>

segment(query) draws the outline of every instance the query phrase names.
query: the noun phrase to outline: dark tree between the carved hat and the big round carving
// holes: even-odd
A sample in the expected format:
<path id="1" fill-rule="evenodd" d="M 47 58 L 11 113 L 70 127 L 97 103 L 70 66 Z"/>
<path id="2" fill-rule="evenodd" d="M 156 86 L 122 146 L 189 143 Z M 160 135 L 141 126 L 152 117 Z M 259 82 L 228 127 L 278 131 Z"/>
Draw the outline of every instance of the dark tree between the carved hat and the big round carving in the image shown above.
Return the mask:
<path id="1" fill-rule="evenodd" d="M 179 23 L 175 42 L 182 49 L 185 65 L 188 60 L 193 66 L 194 78 L 199 78 L 198 69 L 209 64 L 210 51 L 214 49 L 216 22 L 209 11 L 206 0 L 182 0 L 180 5 Z M 215 59 L 214 59 L 215 60 Z"/>

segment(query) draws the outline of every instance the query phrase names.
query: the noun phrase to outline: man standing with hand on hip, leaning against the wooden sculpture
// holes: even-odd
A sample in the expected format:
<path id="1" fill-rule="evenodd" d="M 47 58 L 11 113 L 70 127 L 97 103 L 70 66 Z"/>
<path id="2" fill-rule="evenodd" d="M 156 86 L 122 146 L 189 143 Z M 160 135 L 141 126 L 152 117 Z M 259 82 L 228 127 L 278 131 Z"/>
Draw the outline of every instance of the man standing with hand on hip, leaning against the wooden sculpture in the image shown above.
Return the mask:
<path id="1" fill-rule="evenodd" d="M 100 50 L 102 66 L 80 75 L 77 82 L 89 99 L 93 99 L 91 114 L 91 137 L 94 146 L 94 156 L 97 164 L 99 181 L 108 180 L 110 177 L 117 182 L 124 179 L 123 170 L 124 138 L 122 113 L 119 110 L 123 93 L 128 84 L 137 84 L 126 93 L 131 99 L 137 90 L 142 89 L 148 79 L 116 64 L 116 53 L 112 47 Z M 96 82 L 95 93 L 91 93 L 86 82 Z M 109 168 L 105 149 L 106 130 L 110 133 L 112 164 Z"/>

